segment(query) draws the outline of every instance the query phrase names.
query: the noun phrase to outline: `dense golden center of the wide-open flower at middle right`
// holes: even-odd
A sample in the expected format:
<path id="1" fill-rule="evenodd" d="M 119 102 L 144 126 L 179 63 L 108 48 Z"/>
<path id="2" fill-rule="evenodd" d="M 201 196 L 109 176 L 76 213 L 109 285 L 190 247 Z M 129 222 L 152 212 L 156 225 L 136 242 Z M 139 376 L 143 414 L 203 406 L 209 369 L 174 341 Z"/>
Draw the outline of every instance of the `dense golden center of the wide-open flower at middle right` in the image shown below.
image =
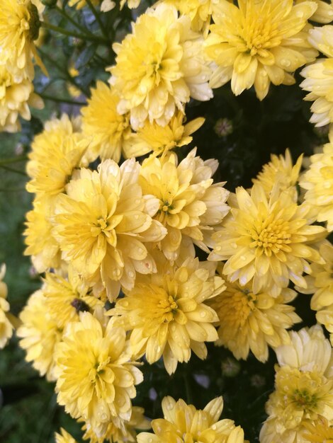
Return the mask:
<path id="1" fill-rule="evenodd" d="M 288 230 L 288 222 L 282 219 L 261 223 L 261 226 L 251 232 L 252 243 L 250 248 L 259 248 L 268 256 L 279 251 L 288 252 L 290 247 L 287 245 L 291 243 L 291 235 Z"/>

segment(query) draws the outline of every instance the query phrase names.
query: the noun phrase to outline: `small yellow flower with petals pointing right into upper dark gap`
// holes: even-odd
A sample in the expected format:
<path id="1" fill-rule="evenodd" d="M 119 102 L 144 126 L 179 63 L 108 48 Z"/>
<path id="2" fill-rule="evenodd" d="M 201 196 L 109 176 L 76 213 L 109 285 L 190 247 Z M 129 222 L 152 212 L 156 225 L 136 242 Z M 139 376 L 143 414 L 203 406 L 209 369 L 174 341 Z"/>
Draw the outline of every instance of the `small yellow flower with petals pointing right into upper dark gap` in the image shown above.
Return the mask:
<path id="1" fill-rule="evenodd" d="M 157 125 L 156 122 L 145 122 L 145 125 L 133 134 L 131 142 L 125 149 L 128 157 L 137 157 L 153 151 L 154 155 L 166 154 L 170 149 L 185 146 L 192 142 L 191 134 L 196 132 L 205 122 L 203 117 L 198 117 L 184 125 L 184 114 L 177 111 L 166 126 Z"/>

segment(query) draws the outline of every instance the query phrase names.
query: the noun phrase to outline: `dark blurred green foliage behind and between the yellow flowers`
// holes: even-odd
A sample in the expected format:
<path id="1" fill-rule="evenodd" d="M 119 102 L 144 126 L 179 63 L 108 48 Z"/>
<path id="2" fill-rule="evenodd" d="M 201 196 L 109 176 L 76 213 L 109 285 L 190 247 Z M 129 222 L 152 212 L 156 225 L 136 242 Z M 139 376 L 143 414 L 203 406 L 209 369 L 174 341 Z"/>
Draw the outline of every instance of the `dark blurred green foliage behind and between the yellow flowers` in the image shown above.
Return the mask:
<path id="1" fill-rule="evenodd" d="M 25 190 L 24 159 L 30 142 L 51 115 L 79 113 L 78 103 L 85 102 L 89 88 L 97 79 L 108 78 L 105 68 L 114 61 L 111 42 L 121 40 L 130 30 L 134 14 L 140 13 L 124 8 L 120 14 L 115 8 L 101 15 L 104 29 L 101 33 L 100 24 L 89 8 L 77 12 L 66 4 L 64 1 L 62 9 L 47 11 L 50 24 L 72 33 L 81 33 L 81 27 L 94 38 L 90 41 L 43 30 L 40 57 L 49 76 L 38 70 L 35 90 L 44 96 L 45 109 L 33 110 L 32 120 L 23 122 L 20 134 L 0 134 L 0 263 L 7 265 L 5 281 L 9 286 L 11 310 L 16 315 L 28 296 L 40 287 L 29 258 L 23 255 L 24 217 L 31 205 L 31 196 Z M 149 2 L 142 4 L 141 11 L 147 4 Z M 101 41 L 96 41 L 97 35 Z M 71 66 L 79 71 L 74 78 L 69 74 Z M 303 101 L 304 94 L 298 86 L 300 79 L 297 80 L 295 86 L 271 86 L 263 102 L 256 99 L 252 90 L 239 97 L 233 96 L 229 84 L 215 90 L 215 97 L 207 103 L 193 101 L 187 108 L 188 120 L 204 116 L 205 125 L 194 134 L 193 143 L 180 152 L 180 156 L 198 146 L 198 154 L 204 159 L 213 157 L 220 162 L 215 180 L 227 181 L 227 188 L 235 190 L 237 185 L 251 185 L 251 179 L 269 161 L 271 153 L 280 154 L 289 147 L 294 159 L 302 152 L 312 154 L 313 148 L 325 140 L 325 134 L 315 132 L 308 122 L 310 105 Z M 68 84 L 81 91 L 78 98 L 69 96 Z M 13 158 L 13 163 L 6 163 L 6 159 Z M 300 295 L 295 306 L 305 319 L 297 329 L 315 323 L 315 315 L 309 308 L 310 297 Z M 149 418 L 158 418 L 162 416 L 161 401 L 165 395 L 182 397 L 197 408 L 203 408 L 212 398 L 222 394 L 223 417 L 234 419 L 244 427 L 250 442 L 258 442 L 261 422 L 266 417 L 264 404 L 273 390 L 275 362 L 273 352 L 266 364 L 252 355 L 247 362 L 237 362 L 229 351 L 208 345 L 208 359 L 201 361 L 193 356 L 188 364 L 180 364 L 173 376 L 166 374 L 162 363 L 145 364 L 142 368 L 145 381 L 137 387 L 133 403 L 143 406 Z M 53 434 L 60 426 L 79 439 L 79 425 L 56 403 L 54 384 L 40 379 L 30 364 L 24 362 L 24 352 L 18 348 L 15 337 L 1 351 L 0 389 L 1 442 L 54 442 Z"/>

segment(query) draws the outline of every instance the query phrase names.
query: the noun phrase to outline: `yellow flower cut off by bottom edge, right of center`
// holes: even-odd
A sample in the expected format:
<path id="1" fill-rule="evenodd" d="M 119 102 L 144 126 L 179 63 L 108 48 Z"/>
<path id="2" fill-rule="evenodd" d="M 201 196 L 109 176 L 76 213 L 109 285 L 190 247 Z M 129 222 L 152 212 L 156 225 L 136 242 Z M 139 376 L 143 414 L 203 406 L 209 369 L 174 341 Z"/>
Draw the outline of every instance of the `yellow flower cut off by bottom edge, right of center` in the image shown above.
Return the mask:
<path id="1" fill-rule="evenodd" d="M 222 397 L 210 401 L 203 410 L 187 405 L 182 399 L 176 402 L 172 397 L 164 397 L 164 418 L 152 420 L 154 434 L 141 432 L 137 443 L 245 443 L 242 427 L 229 419 L 218 420 L 222 408 Z"/>

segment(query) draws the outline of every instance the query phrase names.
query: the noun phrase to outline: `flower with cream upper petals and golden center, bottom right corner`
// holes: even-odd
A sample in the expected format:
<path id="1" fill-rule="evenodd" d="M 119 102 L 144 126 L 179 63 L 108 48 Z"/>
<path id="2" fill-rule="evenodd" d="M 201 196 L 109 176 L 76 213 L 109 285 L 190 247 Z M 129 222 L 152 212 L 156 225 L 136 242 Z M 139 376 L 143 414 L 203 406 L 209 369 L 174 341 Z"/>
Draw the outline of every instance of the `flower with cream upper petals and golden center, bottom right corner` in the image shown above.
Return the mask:
<path id="1" fill-rule="evenodd" d="M 290 344 L 276 349 L 276 390 L 261 443 L 306 443 L 305 424 L 333 420 L 332 347 L 320 326 L 291 331 Z"/>

